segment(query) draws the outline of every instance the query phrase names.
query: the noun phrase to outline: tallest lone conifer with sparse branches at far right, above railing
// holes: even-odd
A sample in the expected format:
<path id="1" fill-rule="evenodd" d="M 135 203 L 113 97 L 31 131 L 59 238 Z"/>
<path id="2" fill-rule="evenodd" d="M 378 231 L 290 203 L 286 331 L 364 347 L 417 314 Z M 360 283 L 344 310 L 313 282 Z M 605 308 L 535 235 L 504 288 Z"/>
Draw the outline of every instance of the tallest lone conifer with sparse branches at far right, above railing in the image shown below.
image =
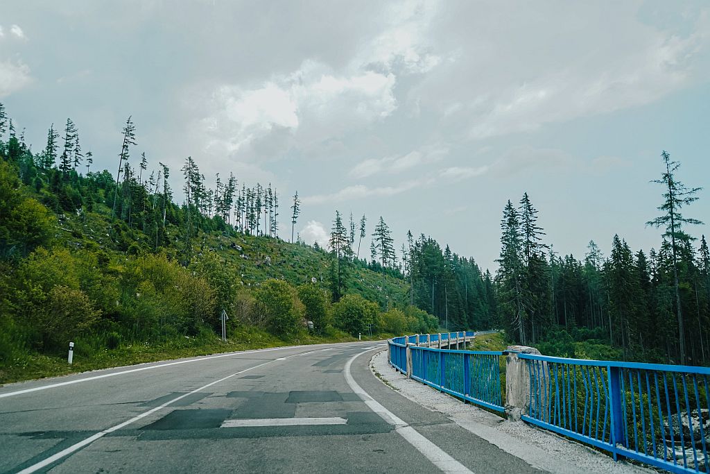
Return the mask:
<path id="1" fill-rule="evenodd" d="M 686 360 L 686 352 L 683 312 L 680 301 L 680 283 L 678 277 L 679 245 L 682 244 L 682 242 L 687 242 L 691 239 L 691 237 L 682 230 L 682 225 L 699 225 L 702 224 L 702 222 L 690 217 L 683 217 L 680 210 L 684 205 L 688 205 L 696 201 L 698 198 L 695 194 L 702 188 L 686 188 L 682 183 L 675 179 L 675 173 L 678 171 L 680 163 L 677 161 L 671 161 L 670 154 L 665 150 L 661 153 L 661 158 L 663 163 L 665 163 L 666 171 L 665 173 L 662 173 L 660 179 L 652 182 L 662 184 L 666 189 L 663 193 L 663 204 L 658 207 L 658 210 L 663 211 L 664 214 L 646 222 L 646 225 L 652 225 L 653 227 L 665 227 L 665 233 L 663 235 L 665 237 L 670 237 L 671 240 L 676 316 L 678 319 L 678 335 L 680 344 L 680 363 L 684 364 Z"/>

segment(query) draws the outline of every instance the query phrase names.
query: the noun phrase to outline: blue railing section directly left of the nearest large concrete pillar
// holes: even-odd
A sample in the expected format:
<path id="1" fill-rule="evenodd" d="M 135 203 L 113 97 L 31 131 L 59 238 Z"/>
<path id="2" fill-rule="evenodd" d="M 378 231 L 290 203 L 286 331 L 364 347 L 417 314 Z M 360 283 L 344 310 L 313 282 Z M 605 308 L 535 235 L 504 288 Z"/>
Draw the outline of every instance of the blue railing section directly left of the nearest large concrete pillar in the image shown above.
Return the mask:
<path id="1" fill-rule="evenodd" d="M 496 351 L 417 348 L 412 351 L 412 378 L 496 411 L 504 411 L 501 355 Z"/>

